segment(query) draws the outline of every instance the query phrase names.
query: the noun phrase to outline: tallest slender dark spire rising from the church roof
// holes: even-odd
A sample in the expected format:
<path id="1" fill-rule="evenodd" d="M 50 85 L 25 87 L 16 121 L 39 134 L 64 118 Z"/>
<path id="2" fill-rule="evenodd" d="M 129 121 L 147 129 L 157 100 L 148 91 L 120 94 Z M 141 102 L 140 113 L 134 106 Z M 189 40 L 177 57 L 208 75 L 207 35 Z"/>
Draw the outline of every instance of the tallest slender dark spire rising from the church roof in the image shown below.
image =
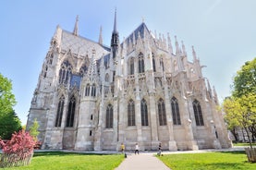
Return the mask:
<path id="1" fill-rule="evenodd" d="M 111 51 L 112 51 L 113 58 L 116 58 L 118 43 L 119 43 L 119 35 L 116 30 L 116 11 L 115 11 L 114 30 L 112 32 L 112 38 L 111 38 Z"/>

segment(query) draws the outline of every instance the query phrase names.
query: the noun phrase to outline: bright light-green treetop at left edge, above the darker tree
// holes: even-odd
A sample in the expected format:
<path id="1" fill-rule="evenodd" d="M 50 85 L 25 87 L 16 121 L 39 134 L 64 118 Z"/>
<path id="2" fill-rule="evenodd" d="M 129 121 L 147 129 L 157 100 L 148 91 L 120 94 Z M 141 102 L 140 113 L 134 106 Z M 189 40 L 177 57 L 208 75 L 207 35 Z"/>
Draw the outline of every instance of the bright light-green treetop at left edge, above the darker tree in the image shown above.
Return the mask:
<path id="1" fill-rule="evenodd" d="M 12 111 L 12 107 L 16 103 L 15 96 L 11 90 L 11 80 L 5 78 L 0 73 L 0 115 L 10 113 Z"/>

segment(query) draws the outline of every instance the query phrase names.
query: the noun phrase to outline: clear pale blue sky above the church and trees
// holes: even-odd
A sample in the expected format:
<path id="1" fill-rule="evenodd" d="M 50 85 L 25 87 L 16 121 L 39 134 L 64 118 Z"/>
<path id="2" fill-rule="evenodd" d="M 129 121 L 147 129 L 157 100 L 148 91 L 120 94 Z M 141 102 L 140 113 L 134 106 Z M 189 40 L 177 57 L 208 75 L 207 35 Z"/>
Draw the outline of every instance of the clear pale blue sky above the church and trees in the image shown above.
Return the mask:
<path id="1" fill-rule="evenodd" d="M 230 95 L 238 69 L 256 56 L 255 6 L 255 0 L 2 0 L 0 73 L 12 80 L 15 111 L 24 125 L 56 26 L 72 31 L 79 15 L 79 35 L 98 41 L 102 26 L 104 44 L 109 45 L 117 8 L 121 41 L 144 18 L 149 30 L 170 32 L 172 42 L 177 35 L 189 61 L 194 45 L 201 65 L 207 66 L 203 76 L 222 101 Z"/>

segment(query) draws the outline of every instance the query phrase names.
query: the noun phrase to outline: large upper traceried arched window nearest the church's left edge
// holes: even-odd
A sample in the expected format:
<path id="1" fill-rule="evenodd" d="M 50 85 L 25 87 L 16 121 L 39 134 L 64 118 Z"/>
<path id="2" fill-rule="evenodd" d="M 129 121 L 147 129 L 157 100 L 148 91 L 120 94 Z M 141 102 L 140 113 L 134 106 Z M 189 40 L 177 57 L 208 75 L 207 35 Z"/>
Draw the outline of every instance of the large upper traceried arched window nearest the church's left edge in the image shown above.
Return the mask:
<path id="1" fill-rule="evenodd" d="M 61 68 L 59 70 L 59 83 L 67 84 L 68 79 L 70 79 L 71 77 L 71 70 L 72 67 L 68 63 L 68 61 L 62 63 Z"/>

